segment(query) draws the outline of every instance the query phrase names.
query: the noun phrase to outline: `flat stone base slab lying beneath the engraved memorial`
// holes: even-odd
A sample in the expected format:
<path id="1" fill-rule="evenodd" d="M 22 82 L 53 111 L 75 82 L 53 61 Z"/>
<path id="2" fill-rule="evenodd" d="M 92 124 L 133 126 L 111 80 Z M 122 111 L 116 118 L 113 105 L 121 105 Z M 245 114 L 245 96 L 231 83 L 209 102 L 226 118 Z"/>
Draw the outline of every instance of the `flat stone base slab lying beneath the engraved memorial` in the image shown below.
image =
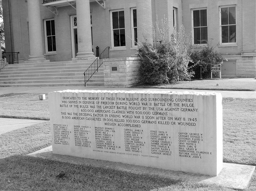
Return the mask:
<path id="1" fill-rule="evenodd" d="M 74 156 L 66 156 L 52 153 L 52 146 L 44 148 L 29 154 L 29 156 L 51 159 L 61 162 L 69 162 L 82 165 L 93 165 L 103 168 L 111 168 L 121 171 L 127 171 L 136 174 L 159 175 L 165 178 L 182 179 L 188 181 L 196 181 L 205 184 L 215 184 L 236 190 L 244 190 L 248 187 L 249 182 L 254 173 L 255 166 L 241 165 L 234 163 L 223 163 L 223 168 L 218 176 L 208 176 L 195 173 L 187 173 L 182 171 L 171 171 L 152 167 L 144 167 L 138 165 L 130 165 L 119 162 L 104 161 L 99 159 L 88 159 Z"/>

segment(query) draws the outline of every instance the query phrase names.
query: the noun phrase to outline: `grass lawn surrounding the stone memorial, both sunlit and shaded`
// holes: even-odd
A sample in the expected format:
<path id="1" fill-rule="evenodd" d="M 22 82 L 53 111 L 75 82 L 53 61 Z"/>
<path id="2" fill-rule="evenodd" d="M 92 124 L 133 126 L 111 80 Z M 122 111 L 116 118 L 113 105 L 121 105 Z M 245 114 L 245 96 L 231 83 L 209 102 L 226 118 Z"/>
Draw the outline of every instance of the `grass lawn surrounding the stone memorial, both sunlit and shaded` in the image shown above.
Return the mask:
<path id="1" fill-rule="evenodd" d="M 224 162 L 256 165 L 255 108 L 256 99 L 223 99 Z M 2 95 L 0 116 L 48 119 L 48 99 L 38 100 L 38 95 L 35 94 Z M 0 190 L 232 190 L 190 181 L 174 181 L 158 176 L 137 175 L 26 156 L 50 144 L 49 122 L 0 135 Z M 55 176 L 61 169 L 67 174 L 62 179 L 56 179 Z M 246 190 L 256 190 L 255 172 L 250 187 Z"/>

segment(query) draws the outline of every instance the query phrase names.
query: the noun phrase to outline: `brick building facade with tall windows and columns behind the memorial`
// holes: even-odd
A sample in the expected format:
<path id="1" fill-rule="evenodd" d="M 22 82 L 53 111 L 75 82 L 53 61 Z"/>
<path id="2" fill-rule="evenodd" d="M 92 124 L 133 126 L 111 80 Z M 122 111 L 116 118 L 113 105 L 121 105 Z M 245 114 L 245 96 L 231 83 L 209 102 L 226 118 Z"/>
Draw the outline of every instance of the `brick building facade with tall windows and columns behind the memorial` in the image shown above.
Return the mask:
<path id="1" fill-rule="evenodd" d="M 110 58 L 136 56 L 133 39 L 166 17 L 183 24 L 191 47 L 222 53 L 222 75 L 256 75 L 255 0 L 2 0 L 6 51 L 20 61 L 88 59 L 110 47 Z M 148 35 L 148 41 L 152 41 Z"/>

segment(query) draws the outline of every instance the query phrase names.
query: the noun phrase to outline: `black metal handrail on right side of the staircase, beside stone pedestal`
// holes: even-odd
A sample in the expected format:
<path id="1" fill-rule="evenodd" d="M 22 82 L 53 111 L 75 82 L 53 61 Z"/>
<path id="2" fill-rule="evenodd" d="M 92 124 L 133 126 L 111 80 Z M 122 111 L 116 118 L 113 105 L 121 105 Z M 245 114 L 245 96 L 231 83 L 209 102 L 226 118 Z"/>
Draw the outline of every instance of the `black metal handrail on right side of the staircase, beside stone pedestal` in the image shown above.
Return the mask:
<path id="1" fill-rule="evenodd" d="M 94 62 L 88 67 L 88 69 L 84 72 L 84 87 L 86 87 L 86 83 L 88 80 L 94 75 L 95 72 L 98 72 L 99 67 L 103 63 L 103 59 L 109 58 L 109 46 L 102 51 L 102 53 L 94 60 Z"/>

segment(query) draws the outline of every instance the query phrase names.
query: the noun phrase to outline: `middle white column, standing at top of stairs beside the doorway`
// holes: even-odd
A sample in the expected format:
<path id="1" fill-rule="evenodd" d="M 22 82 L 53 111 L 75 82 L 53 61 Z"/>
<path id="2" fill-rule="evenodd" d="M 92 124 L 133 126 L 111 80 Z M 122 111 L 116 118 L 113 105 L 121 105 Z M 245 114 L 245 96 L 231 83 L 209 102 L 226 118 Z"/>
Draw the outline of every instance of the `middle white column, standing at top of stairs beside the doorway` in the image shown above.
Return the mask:
<path id="1" fill-rule="evenodd" d="M 78 53 L 76 58 L 95 57 L 92 52 L 92 34 L 89 0 L 76 0 Z"/>

